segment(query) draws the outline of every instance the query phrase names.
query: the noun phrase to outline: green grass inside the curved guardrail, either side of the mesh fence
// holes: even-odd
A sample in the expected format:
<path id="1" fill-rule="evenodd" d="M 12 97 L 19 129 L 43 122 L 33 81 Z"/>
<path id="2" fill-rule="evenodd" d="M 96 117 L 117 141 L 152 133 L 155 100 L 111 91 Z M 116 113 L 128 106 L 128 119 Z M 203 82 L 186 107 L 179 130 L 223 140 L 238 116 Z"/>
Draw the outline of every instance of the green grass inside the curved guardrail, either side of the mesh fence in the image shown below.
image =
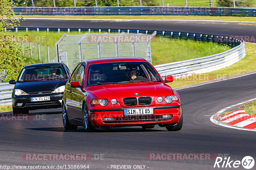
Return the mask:
<path id="1" fill-rule="evenodd" d="M 43 41 L 36 41 L 45 46 L 55 47 L 55 42 L 61 37 L 64 32 L 46 32 L 46 31 L 19 31 L 9 32 L 9 34 L 14 35 L 28 35 L 33 36 L 33 39 L 43 39 Z M 67 32 L 66 32 L 67 33 Z M 81 32 L 82 34 L 84 32 Z M 70 32 L 67 34 L 79 34 L 78 32 Z M 39 37 L 39 38 L 36 38 Z M 37 46 L 34 46 L 37 48 Z M 196 49 L 196 50 L 195 50 Z M 163 37 L 156 37 L 151 43 L 151 52 L 152 52 L 152 61 L 153 65 L 164 64 L 175 61 L 188 60 L 198 57 L 204 57 L 207 55 L 212 55 L 216 53 L 221 53 L 230 49 L 227 46 L 221 46 L 214 43 L 205 43 L 205 42 L 195 42 L 192 40 L 176 40 L 176 39 L 167 39 Z M 44 49 L 46 51 L 46 49 Z M 41 48 L 41 56 L 47 56 L 46 53 L 43 55 L 43 50 Z M 55 51 L 52 52 L 56 56 Z M 34 57 L 36 58 L 36 57 Z M 39 62 L 39 60 L 36 60 Z"/>

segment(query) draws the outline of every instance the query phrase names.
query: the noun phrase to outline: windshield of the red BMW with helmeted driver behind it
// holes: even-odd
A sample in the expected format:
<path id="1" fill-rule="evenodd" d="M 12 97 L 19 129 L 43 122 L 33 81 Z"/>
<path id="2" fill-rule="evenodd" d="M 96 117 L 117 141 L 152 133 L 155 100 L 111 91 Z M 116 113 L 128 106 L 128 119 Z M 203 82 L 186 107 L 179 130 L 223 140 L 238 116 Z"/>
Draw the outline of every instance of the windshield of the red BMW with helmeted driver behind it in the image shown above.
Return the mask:
<path id="1" fill-rule="evenodd" d="M 162 82 L 147 62 L 114 62 L 92 64 L 87 71 L 87 85 L 124 82 Z"/>

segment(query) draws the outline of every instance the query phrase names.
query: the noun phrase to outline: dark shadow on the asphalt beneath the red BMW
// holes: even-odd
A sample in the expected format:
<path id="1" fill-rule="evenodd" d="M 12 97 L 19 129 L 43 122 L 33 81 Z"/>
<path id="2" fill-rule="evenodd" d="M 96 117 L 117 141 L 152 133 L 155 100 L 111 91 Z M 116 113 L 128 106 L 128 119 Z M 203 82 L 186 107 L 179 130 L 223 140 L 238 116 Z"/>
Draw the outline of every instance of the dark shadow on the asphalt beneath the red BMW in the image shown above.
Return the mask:
<path id="1" fill-rule="evenodd" d="M 33 131 L 55 131 L 55 132 L 86 132 L 83 127 L 78 127 L 77 130 L 65 130 L 63 127 L 51 127 L 51 128 L 28 128 Z M 142 128 L 111 128 L 109 130 L 97 130 L 94 133 L 109 133 L 109 132 L 156 132 L 163 131 L 157 129 L 142 129 Z"/>

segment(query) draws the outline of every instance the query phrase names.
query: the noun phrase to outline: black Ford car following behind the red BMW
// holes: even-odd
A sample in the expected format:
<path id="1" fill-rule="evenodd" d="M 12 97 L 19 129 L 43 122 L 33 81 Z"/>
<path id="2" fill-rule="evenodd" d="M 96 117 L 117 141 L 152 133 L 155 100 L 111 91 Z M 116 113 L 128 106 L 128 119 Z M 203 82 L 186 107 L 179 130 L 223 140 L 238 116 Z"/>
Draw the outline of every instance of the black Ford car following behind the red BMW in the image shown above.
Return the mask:
<path id="1" fill-rule="evenodd" d="M 12 91 L 13 113 L 61 107 L 65 84 L 70 76 L 63 63 L 40 63 L 22 68 Z"/>

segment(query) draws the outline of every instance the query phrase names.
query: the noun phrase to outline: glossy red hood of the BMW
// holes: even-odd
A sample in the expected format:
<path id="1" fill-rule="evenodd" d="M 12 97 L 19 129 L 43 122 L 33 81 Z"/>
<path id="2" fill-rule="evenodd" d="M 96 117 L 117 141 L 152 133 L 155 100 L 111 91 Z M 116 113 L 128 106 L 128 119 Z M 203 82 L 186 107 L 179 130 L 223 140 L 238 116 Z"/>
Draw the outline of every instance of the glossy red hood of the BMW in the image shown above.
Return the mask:
<path id="1" fill-rule="evenodd" d="M 86 88 L 98 99 L 117 99 L 123 101 L 125 97 L 151 96 L 152 100 L 156 100 L 158 96 L 173 95 L 170 86 L 159 82 L 138 82 L 138 83 L 121 83 L 121 84 L 105 84 L 91 86 Z M 139 95 L 135 95 L 139 93 Z M 122 105 L 122 103 L 120 103 Z"/>

